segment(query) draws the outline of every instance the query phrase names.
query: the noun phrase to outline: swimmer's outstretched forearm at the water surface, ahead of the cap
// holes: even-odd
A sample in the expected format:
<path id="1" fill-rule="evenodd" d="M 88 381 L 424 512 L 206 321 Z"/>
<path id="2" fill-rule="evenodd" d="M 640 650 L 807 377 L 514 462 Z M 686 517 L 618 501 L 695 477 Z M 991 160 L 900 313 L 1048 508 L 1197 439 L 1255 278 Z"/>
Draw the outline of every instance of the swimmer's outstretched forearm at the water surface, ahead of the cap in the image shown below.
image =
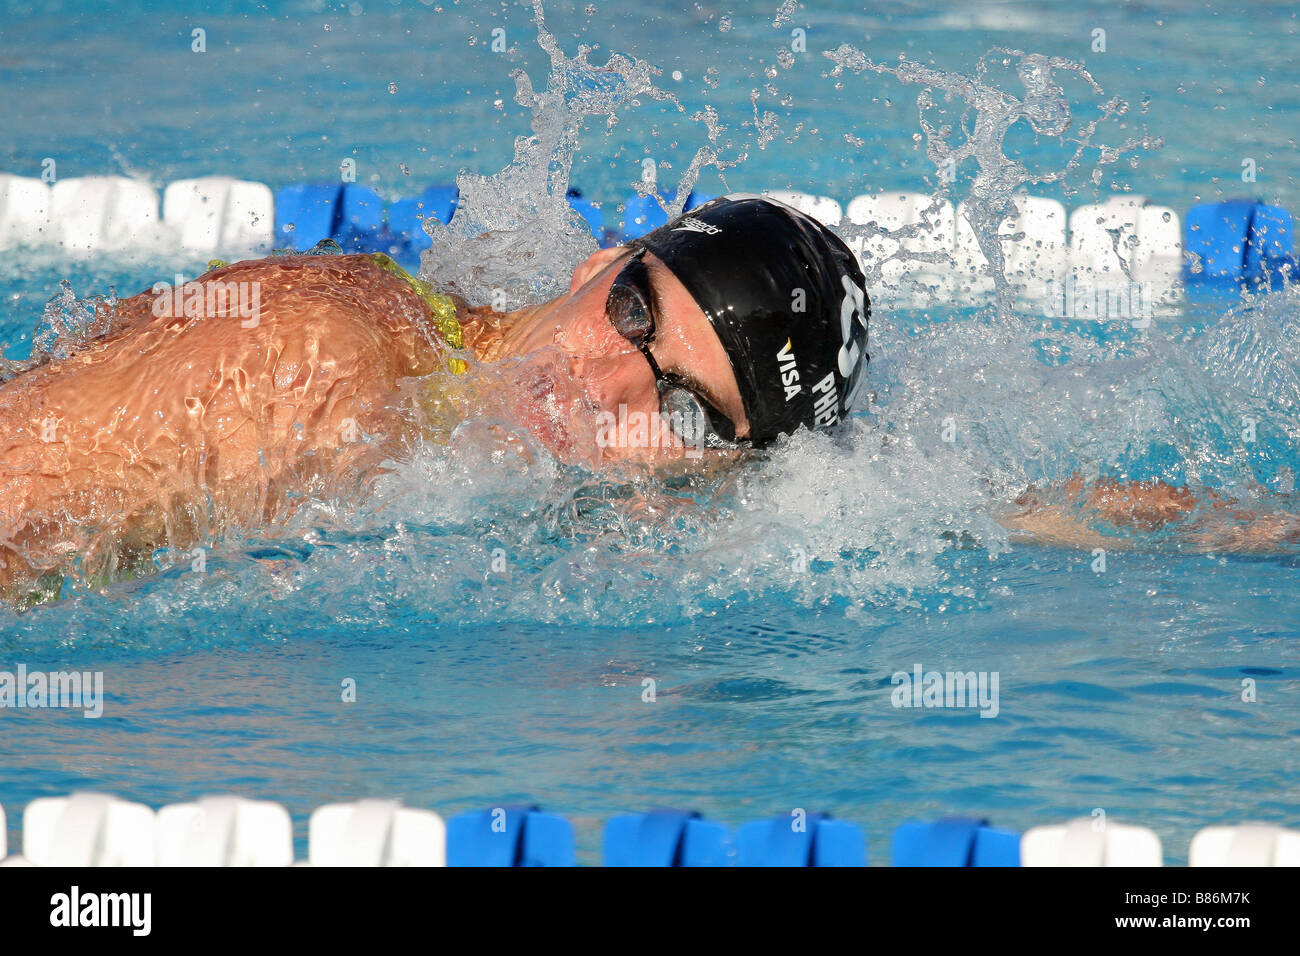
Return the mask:
<path id="1" fill-rule="evenodd" d="M 1193 551 L 1278 553 L 1300 544 L 1300 515 L 1292 511 L 1248 509 L 1208 489 L 1199 496 L 1165 481 L 1088 484 L 1074 476 L 1045 490 L 1030 488 L 998 522 L 1013 541 L 1057 548 L 1140 548 L 1143 532 L 1171 533 Z M 1102 535 L 1100 524 L 1135 533 Z"/>

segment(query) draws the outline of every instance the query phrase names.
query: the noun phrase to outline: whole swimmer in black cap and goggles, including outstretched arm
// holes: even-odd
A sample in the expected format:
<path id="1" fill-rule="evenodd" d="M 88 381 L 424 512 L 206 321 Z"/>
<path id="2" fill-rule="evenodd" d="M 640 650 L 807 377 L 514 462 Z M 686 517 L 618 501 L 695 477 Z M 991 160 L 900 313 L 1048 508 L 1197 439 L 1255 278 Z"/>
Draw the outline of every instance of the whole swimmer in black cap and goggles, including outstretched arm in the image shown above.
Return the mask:
<path id="1" fill-rule="evenodd" d="M 303 501 L 356 501 L 439 416 L 454 427 L 468 362 L 508 368 L 510 394 L 481 398 L 595 467 L 718 462 L 832 429 L 861 392 L 868 320 L 844 242 L 749 194 L 593 252 L 568 294 L 508 313 L 438 294 L 386 256 L 272 256 L 155 286 L 101 306 L 74 354 L 0 385 L 0 596 L 147 568 L 155 549 L 276 523 Z M 1093 546 L 1066 498 L 1134 527 L 1196 506 L 1167 485 L 1056 490 L 1022 496 L 1008 527 Z M 1240 520 L 1234 507 L 1214 511 Z M 1236 544 L 1294 541 L 1295 520 L 1283 525 Z M 1216 533 L 1195 532 L 1206 548 Z"/>

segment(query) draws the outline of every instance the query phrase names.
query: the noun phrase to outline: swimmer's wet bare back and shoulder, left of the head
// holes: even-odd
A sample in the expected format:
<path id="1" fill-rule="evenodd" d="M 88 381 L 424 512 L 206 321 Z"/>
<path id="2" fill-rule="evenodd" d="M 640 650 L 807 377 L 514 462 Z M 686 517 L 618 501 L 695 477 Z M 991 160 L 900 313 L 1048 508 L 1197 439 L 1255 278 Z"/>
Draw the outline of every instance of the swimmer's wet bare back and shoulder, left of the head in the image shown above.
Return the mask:
<path id="1" fill-rule="evenodd" d="M 213 515 L 355 490 L 410 434 L 398 381 L 445 362 L 437 320 L 412 281 L 348 255 L 118 303 L 105 334 L 0 386 L 0 584 L 29 558 L 186 548 Z"/>

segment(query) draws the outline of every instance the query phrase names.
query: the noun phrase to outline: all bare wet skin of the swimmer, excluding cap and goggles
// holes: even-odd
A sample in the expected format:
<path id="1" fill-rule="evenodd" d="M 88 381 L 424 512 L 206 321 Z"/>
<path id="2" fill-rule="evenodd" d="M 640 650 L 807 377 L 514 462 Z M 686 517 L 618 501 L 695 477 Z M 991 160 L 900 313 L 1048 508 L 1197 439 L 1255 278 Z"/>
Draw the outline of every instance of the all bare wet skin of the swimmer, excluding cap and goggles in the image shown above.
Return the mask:
<path id="1" fill-rule="evenodd" d="M 458 300 L 467 346 L 488 363 L 549 355 L 588 412 L 621 406 L 667 431 L 649 363 L 606 316 L 628 255 L 594 252 L 567 295 L 516 312 Z M 646 264 L 658 299 L 655 360 L 694 382 L 744 436 L 722 343 L 680 281 L 653 255 Z M 147 563 L 156 548 L 183 550 L 277 522 L 303 498 L 356 501 L 416 437 L 399 382 L 439 372 L 445 355 L 403 280 L 368 256 L 281 256 L 198 282 L 256 282 L 256 324 L 170 316 L 159 308 L 165 293 L 147 291 L 100 315 L 103 334 L 81 351 L 0 386 L 0 594 L 73 561 L 92 580 L 110 578 Z M 585 449 L 582 458 L 659 463 L 685 453 L 670 434 L 653 438 L 649 447 Z M 1072 481 L 1057 490 L 1053 498 L 1031 489 L 1004 523 L 1024 540 L 1100 546 L 1063 501 L 1088 496 L 1102 519 L 1136 529 L 1176 524 L 1196 505 L 1186 489 L 1160 484 Z M 1295 519 L 1261 522 L 1232 502 L 1212 503 L 1222 527 L 1192 529 L 1192 546 L 1256 550 L 1297 535 Z"/>

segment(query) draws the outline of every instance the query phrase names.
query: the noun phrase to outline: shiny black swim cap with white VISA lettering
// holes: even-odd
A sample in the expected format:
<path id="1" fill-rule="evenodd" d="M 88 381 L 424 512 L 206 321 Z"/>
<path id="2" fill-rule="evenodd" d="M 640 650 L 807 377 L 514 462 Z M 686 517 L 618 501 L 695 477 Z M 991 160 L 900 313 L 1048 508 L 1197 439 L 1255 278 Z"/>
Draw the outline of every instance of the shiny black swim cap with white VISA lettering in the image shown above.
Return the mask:
<path id="1" fill-rule="evenodd" d="M 628 245 L 654 252 L 708 316 L 755 446 L 848 418 L 871 303 L 838 235 L 785 203 L 733 193 Z"/>

